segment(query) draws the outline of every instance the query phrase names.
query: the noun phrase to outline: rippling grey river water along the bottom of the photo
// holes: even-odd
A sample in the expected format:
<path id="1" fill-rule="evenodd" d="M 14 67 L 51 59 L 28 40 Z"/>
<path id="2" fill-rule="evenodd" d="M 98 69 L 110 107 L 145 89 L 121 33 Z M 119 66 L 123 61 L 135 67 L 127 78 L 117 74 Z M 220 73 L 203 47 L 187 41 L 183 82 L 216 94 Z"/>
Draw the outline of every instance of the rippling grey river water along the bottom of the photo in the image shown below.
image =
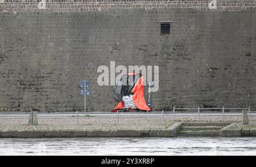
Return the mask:
<path id="1" fill-rule="evenodd" d="M 256 155 L 256 138 L 2 138 L 0 155 Z"/>

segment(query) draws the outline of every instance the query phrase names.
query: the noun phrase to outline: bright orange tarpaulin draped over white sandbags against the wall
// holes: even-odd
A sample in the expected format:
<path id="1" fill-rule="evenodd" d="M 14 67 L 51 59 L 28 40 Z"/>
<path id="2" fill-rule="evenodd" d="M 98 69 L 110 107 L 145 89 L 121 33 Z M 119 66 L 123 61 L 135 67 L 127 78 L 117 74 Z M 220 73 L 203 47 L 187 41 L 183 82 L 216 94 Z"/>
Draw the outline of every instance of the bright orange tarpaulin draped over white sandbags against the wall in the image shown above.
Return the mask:
<path id="1" fill-rule="evenodd" d="M 129 73 L 127 75 L 134 75 L 137 73 Z M 150 111 L 150 108 L 147 106 L 146 101 L 144 99 L 144 76 L 142 75 L 141 78 L 139 78 L 138 82 L 134 85 L 134 88 L 131 90 L 131 92 L 134 93 L 133 95 L 133 101 L 135 106 L 140 110 L 146 110 Z M 120 101 L 117 106 L 115 106 L 114 109 L 123 109 L 124 103 L 123 101 Z"/>

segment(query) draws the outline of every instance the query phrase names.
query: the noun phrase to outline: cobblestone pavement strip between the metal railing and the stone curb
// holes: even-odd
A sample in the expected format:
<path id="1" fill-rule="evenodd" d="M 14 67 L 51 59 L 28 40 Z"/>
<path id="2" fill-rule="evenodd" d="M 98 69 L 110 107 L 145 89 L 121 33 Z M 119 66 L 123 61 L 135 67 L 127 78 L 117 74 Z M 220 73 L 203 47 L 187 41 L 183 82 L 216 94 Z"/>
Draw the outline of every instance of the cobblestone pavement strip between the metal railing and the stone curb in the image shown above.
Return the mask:
<path id="1" fill-rule="evenodd" d="M 241 122 L 241 118 L 202 116 L 197 117 L 173 117 L 164 118 L 79 118 L 79 125 L 76 125 L 76 118 L 39 118 L 39 125 L 28 125 L 28 118 L 7 118 L 0 119 L 0 130 L 131 130 L 131 129 L 166 129 L 174 122 Z M 256 126 L 256 119 L 250 122 Z M 240 125 L 238 123 L 238 125 Z"/>

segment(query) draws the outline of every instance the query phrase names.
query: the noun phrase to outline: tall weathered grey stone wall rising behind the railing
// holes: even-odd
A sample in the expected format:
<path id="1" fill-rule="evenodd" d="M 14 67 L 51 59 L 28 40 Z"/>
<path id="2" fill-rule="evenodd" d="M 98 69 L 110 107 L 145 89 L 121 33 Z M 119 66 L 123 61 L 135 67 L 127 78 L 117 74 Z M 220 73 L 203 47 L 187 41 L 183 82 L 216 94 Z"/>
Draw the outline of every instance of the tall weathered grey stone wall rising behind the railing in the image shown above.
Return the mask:
<path id="1" fill-rule="evenodd" d="M 110 61 L 159 65 L 156 110 L 255 110 L 256 1 L 219 0 L 217 10 L 207 0 L 39 2 L 0 0 L 0 112 L 82 110 L 84 78 L 88 109 L 108 111 L 117 101 L 97 68 Z M 167 20 L 171 34 L 160 36 Z"/>

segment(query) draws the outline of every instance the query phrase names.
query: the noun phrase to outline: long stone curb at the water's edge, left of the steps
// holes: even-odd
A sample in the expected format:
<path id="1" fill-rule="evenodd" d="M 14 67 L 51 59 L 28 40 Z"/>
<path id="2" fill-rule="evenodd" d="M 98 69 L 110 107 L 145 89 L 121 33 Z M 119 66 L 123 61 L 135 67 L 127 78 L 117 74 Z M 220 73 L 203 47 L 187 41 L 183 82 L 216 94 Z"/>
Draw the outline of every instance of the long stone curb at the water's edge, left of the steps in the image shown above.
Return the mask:
<path id="1" fill-rule="evenodd" d="M 0 131 L 0 138 L 171 137 L 177 135 L 181 125 L 152 130 Z"/>

